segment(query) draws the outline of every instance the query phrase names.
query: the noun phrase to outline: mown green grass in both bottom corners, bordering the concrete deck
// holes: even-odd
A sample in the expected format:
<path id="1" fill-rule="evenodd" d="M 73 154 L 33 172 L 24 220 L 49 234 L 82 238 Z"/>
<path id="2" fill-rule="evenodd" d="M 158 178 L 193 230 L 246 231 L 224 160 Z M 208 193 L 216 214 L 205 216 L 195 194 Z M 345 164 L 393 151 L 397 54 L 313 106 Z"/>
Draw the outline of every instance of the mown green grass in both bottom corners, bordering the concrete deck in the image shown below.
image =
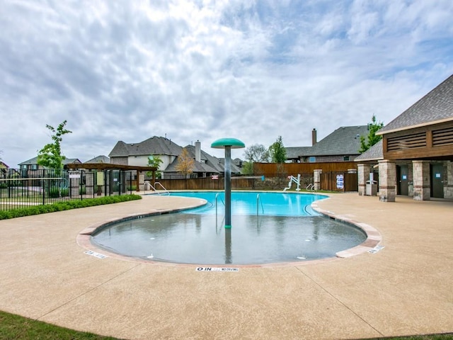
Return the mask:
<path id="1" fill-rule="evenodd" d="M 74 331 L 53 324 L 20 317 L 0 311 L 0 340 L 119 340 L 111 336 L 101 336 L 84 331 Z M 378 339 L 378 338 L 376 338 Z M 453 340 L 453 333 L 437 335 L 405 336 L 380 338 L 390 340 Z"/>

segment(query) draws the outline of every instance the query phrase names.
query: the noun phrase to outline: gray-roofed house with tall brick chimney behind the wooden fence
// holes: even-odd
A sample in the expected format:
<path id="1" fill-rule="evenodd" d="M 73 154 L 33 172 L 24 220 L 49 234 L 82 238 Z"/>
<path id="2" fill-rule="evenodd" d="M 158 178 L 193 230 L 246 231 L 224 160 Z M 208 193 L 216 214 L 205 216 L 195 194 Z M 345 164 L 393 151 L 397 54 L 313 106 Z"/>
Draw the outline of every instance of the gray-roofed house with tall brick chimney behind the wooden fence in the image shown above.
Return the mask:
<path id="1" fill-rule="evenodd" d="M 293 163 L 352 162 L 360 155 L 360 136 L 367 137 L 367 125 L 345 126 L 319 142 L 311 131 L 311 147 L 287 147 L 287 160 Z"/>

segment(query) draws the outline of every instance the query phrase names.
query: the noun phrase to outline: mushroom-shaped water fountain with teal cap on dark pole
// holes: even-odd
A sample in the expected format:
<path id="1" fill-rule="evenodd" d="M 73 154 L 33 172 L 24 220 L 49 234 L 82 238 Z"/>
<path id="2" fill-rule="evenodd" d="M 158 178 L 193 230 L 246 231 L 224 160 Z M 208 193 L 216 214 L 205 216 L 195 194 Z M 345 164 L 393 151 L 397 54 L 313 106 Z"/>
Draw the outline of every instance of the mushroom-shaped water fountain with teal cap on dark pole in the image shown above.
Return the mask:
<path id="1" fill-rule="evenodd" d="M 231 228 L 231 149 L 241 149 L 246 145 L 236 138 L 221 138 L 211 147 L 225 149 L 225 228 Z"/>

